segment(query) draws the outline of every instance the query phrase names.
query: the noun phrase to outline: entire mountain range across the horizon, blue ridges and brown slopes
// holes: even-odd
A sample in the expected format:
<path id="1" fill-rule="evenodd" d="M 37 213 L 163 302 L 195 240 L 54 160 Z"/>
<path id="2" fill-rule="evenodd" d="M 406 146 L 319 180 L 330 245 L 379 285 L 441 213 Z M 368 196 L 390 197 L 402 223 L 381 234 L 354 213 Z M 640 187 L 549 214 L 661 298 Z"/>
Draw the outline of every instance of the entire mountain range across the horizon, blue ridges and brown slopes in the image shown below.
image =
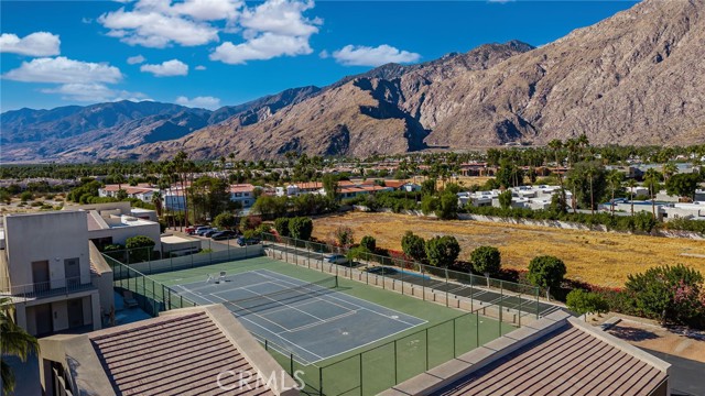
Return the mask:
<path id="1" fill-rule="evenodd" d="M 705 143 L 705 0 L 646 0 L 541 47 L 511 41 L 215 111 L 158 102 L 1 114 L 2 162 L 265 158 Z"/>

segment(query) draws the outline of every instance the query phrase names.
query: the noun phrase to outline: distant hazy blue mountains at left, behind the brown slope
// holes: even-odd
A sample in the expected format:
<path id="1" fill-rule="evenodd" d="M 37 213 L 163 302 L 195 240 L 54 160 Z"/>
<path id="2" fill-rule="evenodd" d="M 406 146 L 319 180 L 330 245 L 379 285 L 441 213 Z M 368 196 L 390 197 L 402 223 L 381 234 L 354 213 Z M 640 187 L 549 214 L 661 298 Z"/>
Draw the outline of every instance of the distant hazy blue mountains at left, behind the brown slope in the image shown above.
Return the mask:
<path id="1" fill-rule="evenodd" d="M 141 145 L 183 138 L 224 120 L 257 123 L 314 95 L 316 87 L 292 88 L 238 106 L 210 111 L 151 101 L 119 101 L 52 110 L 2 113 L 2 162 L 135 158 Z"/>

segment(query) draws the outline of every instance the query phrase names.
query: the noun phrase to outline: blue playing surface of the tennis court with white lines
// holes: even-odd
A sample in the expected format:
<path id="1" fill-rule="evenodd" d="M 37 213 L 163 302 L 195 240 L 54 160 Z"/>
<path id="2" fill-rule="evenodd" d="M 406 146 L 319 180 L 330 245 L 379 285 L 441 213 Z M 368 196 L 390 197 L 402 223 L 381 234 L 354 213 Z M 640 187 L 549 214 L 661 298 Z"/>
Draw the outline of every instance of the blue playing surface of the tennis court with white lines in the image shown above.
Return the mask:
<path id="1" fill-rule="evenodd" d="M 425 323 L 336 288 L 335 277 L 316 283 L 257 270 L 177 285 L 196 304 L 224 304 L 256 337 L 316 363 Z M 275 345 L 270 345 L 276 348 Z"/>

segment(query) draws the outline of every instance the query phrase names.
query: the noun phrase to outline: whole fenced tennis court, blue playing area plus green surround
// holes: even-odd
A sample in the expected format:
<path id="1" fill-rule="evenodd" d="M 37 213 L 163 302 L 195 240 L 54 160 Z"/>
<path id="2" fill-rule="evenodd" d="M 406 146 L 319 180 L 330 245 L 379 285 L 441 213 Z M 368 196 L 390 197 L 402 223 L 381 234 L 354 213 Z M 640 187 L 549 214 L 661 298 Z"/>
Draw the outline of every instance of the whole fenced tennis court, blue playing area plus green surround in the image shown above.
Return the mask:
<path id="1" fill-rule="evenodd" d="M 225 272 L 225 279 L 220 279 L 221 272 Z M 223 282 L 215 284 L 212 279 L 206 283 L 208 275 Z M 245 277 L 238 279 L 239 276 Z M 311 283 L 325 284 L 330 276 L 263 256 L 153 274 L 150 277 L 169 286 L 184 299 L 197 304 L 213 301 L 228 306 L 228 300 L 236 300 L 235 305 L 229 306 L 236 316 L 238 312 L 242 314 L 243 309 L 252 308 L 253 312 L 239 317 L 246 327 L 248 320 L 259 324 L 271 321 L 264 326 L 267 331 L 261 328 L 259 333 L 251 330 L 257 327 L 252 322 L 248 329 L 264 343 L 284 370 L 290 374 L 300 371 L 299 377 L 306 384 L 303 394 L 375 395 L 516 329 L 509 323 L 500 323 L 477 312 L 446 308 L 341 277 L 337 278 L 336 288 L 318 285 L 313 286 L 313 292 L 306 290 L 306 295 L 290 294 L 283 290 L 290 286 L 295 288 Z M 257 278 L 260 283 L 267 279 L 265 285 L 250 287 L 251 293 L 236 292 L 240 289 L 238 285 L 246 280 L 258 280 Z M 231 282 L 227 282 L 228 279 Z M 212 286 L 214 289 L 210 289 Z M 219 286 L 225 287 L 216 289 Z M 280 292 L 283 294 L 278 295 Z M 220 298 L 216 301 L 214 296 Z M 367 317 L 356 320 L 354 324 L 348 323 L 352 332 L 348 330 L 348 334 L 335 333 L 339 328 L 335 326 L 336 320 L 332 319 L 345 312 L 340 308 L 334 311 L 329 305 L 324 304 L 329 301 L 330 296 L 367 308 Z M 248 301 L 249 298 L 253 299 Z M 240 300 L 240 306 L 237 300 Z M 313 307 L 306 307 L 305 302 L 310 300 L 317 302 Z M 314 320 L 303 312 L 299 315 L 289 311 L 301 308 L 302 305 L 304 311 L 321 315 L 321 320 Z M 360 310 L 351 304 L 346 309 Z M 370 322 L 368 318 L 371 316 L 387 318 L 381 324 Z M 386 326 L 398 324 L 391 316 L 398 316 L 395 319 L 403 318 L 408 326 L 384 329 Z M 313 324 L 312 328 L 306 328 L 306 323 Z M 299 334 L 282 340 L 280 336 L 282 332 L 286 333 L 285 329 L 297 330 Z M 267 332 L 275 336 L 272 339 L 262 336 Z M 311 350 L 311 342 L 322 337 L 322 332 L 325 333 L 325 342 Z M 370 332 L 369 337 L 364 336 L 367 332 Z M 304 349 L 317 356 L 307 355 L 303 352 Z"/>

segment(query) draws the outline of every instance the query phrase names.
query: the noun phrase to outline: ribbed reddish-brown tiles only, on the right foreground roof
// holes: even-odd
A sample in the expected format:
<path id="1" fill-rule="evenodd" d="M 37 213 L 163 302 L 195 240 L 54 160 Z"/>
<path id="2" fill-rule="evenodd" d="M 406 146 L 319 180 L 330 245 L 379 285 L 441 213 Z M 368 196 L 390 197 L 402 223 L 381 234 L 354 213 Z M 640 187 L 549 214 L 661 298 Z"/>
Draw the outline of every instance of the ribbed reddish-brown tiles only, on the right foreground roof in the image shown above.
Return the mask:
<path id="1" fill-rule="evenodd" d="M 435 395 L 649 395 L 666 373 L 566 326 Z"/>

